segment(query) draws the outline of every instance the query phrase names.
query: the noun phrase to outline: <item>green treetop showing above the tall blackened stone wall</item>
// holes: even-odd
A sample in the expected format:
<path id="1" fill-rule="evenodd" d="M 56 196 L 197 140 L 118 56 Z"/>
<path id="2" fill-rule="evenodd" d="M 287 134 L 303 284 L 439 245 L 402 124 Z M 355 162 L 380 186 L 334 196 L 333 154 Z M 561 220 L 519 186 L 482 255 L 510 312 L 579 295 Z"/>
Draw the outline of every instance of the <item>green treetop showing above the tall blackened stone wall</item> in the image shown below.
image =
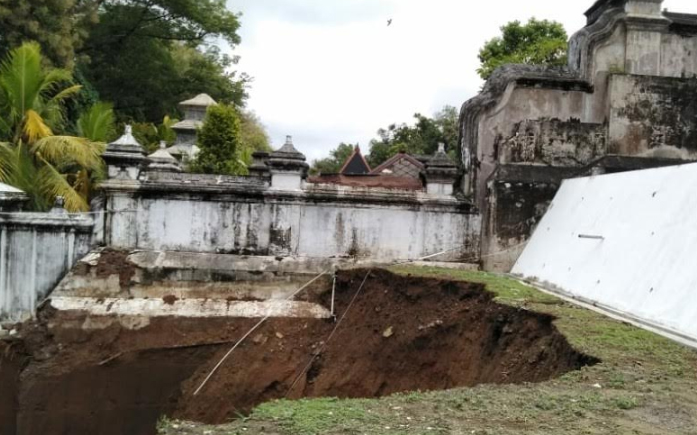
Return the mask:
<path id="1" fill-rule="evenodd" d="M 566 65 L 567 40 L 564 26 L 556 21 L 512 21 L 501 27 L 501 36 L 490 39 L 479 50 L 481 66 L 477 73 L 486 80 L 505 64 Z"/>

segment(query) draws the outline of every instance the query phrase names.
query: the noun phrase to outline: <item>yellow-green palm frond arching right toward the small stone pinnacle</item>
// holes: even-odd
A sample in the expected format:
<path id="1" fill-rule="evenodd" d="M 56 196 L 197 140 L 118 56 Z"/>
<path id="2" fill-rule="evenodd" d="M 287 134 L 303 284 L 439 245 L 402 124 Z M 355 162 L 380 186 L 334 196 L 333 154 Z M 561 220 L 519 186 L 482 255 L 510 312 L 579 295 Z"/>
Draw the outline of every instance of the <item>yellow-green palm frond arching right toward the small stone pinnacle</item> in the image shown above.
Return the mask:
<path id="1" fill-rule="evenodd" d="M 49 136 L 34 143 L 32 152 L 55 165 L 77 164 L 94 170 L 102 165 L 103 143 L 74 136 Z"/>

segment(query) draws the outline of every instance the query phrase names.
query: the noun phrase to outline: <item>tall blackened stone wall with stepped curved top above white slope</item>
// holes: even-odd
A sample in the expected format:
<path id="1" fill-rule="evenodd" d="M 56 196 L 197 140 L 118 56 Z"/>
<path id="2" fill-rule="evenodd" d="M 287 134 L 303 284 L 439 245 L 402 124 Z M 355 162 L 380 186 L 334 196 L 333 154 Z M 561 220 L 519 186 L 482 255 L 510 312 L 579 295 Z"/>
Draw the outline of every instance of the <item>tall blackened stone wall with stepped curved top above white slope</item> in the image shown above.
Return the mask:
<path id="1" fill-rule="evenodd" d="M 697 160 L 697 15 L 661 4 L 597 1 L 568 67 L 506 65 L 463 105 L 486 268 L 510 270 L 564 178 Z"/>

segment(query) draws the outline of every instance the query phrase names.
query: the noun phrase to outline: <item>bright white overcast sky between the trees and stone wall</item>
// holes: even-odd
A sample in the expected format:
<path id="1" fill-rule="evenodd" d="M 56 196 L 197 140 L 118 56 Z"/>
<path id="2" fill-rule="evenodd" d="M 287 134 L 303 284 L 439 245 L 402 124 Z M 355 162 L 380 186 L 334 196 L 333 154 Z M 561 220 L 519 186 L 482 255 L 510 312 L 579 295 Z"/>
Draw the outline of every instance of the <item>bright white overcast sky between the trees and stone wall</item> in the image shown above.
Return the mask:
<path id="1" fill-rule="evenodd" d="M 340 142 L 368 151 L 380 127 L 432 115 L 477 93 L 477 52 L 499 27 L 530 17 L 569 35 L 593 0 L 228 0 L 242 12 L 234 54 L 254 77 L 248 107 L 277 148 L 285 135 L 308 160 Z M 665 0 L 697 13 L 695 0 Z M 392 25 L 387 26 L 387 20 Z"/>

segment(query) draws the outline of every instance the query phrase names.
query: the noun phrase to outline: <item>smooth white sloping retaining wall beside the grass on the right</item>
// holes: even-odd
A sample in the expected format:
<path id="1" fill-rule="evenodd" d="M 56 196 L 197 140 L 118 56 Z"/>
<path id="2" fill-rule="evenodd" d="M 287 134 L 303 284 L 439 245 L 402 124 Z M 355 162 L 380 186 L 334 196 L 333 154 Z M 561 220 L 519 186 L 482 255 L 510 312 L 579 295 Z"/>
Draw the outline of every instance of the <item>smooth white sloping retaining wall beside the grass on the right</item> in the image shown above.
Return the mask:
<path id="1" fill-rule="evenodd" d="M 697 345 L 697 164 L 565 181 L 513 273 Z"/>

